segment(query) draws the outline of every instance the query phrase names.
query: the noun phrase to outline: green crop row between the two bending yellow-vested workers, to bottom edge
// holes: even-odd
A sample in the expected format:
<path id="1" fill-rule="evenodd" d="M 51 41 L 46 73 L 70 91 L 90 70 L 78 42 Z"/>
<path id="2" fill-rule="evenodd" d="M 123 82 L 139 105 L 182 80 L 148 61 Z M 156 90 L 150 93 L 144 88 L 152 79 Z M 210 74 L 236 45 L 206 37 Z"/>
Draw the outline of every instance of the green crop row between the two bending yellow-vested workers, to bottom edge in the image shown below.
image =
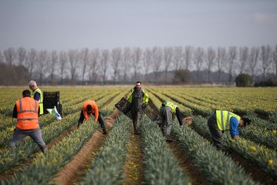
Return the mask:
<path id="1" fill-rule="evenodd" d="M 255 184 L 242 167 L 194 130 L 186 126 L 180 130 L 175 122 L 172 134 L 211 184 Z"/>

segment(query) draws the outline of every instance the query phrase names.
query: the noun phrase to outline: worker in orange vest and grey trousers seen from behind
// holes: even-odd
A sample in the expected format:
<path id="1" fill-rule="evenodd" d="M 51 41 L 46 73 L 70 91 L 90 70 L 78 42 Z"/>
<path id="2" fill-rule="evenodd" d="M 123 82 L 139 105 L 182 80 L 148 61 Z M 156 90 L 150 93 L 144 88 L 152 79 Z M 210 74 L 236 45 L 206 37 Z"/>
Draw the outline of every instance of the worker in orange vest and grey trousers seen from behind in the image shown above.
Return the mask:
<path id="1" fill-rule="evenodd" d="M 42 152 L 46 152 L 47 147 L 42 139 L 42 130 L 39 128 L 39 102 L 30 97 L 30 91 L 22 92 L 23 98 L 17 100 L 13 109 L 12 117 L 17 118 L 17 125 L 13 132 L 10 148 L 15 144 L 30 136 L 37 143 Z"/>

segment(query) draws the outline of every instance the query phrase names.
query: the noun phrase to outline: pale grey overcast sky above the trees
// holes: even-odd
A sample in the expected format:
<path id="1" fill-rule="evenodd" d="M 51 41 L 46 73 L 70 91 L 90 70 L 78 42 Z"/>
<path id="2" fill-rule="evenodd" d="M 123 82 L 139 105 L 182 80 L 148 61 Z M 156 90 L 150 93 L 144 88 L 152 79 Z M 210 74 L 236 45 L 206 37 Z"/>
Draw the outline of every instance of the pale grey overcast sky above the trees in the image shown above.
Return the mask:
<path id="1" fill-rule="evenodd" d="M 277 44 L 277 1 L 0 0 L 0 51 Z"/>

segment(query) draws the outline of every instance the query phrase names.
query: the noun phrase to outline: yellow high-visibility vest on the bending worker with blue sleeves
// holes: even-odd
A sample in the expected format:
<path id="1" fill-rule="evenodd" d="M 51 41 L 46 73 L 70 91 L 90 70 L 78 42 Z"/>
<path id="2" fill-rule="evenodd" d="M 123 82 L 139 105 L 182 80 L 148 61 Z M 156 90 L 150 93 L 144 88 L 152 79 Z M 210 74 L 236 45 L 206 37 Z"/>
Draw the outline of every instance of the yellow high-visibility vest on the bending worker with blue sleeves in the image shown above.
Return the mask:
<path id="1" fill-rule="evenodd" d="M 216 118 L 218 128 L 220 130 L 229 130 L 231 117 L 235 117 L 238 119 L 238 121 L 240 121 L 240 116 L 238 116 L 237 114 L 233 114 L 233 112 L 217 110 Z"/>

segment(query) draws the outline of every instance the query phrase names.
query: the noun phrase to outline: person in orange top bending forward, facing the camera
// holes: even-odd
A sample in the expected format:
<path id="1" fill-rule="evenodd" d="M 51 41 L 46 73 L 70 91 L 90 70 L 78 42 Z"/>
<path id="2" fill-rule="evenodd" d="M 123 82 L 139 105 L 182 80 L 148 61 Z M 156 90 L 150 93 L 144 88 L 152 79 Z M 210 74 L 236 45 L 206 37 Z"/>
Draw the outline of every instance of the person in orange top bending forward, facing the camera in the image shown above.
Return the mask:
<path id="1" fill-rule="evenodd" d="M 91 115 L 91 114 L 94 116 L 94 121 L 95 122 L 98 121 L 100 123 L 103 134 L 107 134 L 105 123 L 100 115 L 100 112 L 98 112 L 98 107 L 96 105 L 96 102 L 93 100 L 86 100 L 82 104 L 82 110 L 81 110 L 80 118 L 78 121 L 78 127 L 82 124 L 84 119 L 89 121 L 89 115 Z"/>

